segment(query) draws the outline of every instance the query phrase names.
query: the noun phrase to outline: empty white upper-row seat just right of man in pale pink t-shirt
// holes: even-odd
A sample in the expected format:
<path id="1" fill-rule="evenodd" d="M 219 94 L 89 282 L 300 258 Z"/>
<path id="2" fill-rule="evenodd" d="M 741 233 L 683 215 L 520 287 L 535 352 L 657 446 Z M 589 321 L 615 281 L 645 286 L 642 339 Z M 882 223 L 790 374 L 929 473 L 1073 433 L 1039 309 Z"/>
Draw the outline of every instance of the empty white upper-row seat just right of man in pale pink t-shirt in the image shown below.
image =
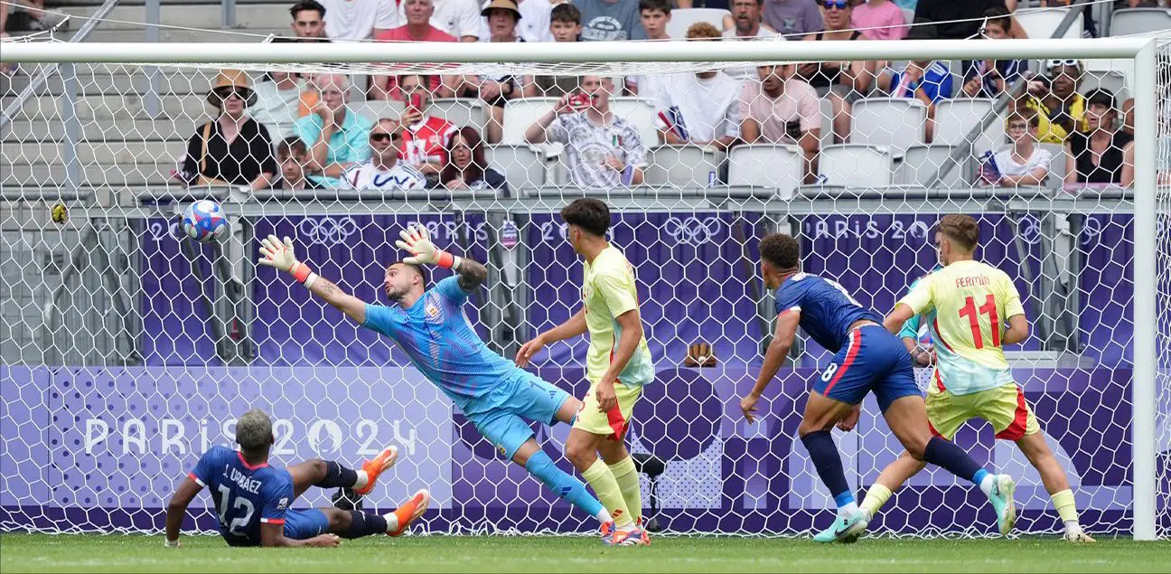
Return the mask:
<path id="1" fill-rule="evenodd" d="M 871 97 L 854 103 L 850 143 L 882 145 L 902 156 L 910 145 L 924 143 L 927 107 L 904 97 Z M 937 130 L 938 131 L 938 130 Z"/>

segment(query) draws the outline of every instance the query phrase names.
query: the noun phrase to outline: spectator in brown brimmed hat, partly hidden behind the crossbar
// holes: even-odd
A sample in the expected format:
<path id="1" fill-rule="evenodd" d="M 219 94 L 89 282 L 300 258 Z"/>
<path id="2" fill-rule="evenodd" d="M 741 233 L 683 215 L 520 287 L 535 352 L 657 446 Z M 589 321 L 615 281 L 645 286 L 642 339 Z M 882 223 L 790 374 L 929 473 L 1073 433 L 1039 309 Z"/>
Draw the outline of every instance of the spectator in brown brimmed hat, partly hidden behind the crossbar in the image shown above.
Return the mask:
<path id="1" fill-rule="evenodd" d="M 516 36 L 516 22 L 520 21 L 520 11 L 513 0 L 492 0 L 484 7 L 484 15 L 488 19 L 492 28 L 492 36 L 488 42 L 523 42 L 525 39 Z M 532 76 L 516 76 L 512 74 L 500 76 L 480 76 L 478 78 L 464 78 L 463 90 L 467 95 L 478 95 L 488 104 L 488 124 L 485 129 L 488 143 L 500 143 L 504 136 L 505 104 L 509 100 L 518 97 L 532 97 L 536 95 L 536 86 Z"/>

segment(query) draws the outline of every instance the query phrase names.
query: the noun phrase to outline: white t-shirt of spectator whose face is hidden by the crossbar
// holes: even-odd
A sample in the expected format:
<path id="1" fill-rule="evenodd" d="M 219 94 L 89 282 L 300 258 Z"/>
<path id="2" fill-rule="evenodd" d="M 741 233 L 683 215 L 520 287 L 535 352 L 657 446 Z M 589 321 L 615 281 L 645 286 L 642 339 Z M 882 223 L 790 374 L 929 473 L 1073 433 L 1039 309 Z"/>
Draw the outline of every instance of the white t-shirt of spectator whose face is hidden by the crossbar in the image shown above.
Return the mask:
<path id="1" fill-rule="evenodd" d="M 682 128 L 689 142 L 739 137 L 740 83 L 723 71 L 708 78 L 691 71 L 667 76 L 655 98 L 658 128 Z"/>

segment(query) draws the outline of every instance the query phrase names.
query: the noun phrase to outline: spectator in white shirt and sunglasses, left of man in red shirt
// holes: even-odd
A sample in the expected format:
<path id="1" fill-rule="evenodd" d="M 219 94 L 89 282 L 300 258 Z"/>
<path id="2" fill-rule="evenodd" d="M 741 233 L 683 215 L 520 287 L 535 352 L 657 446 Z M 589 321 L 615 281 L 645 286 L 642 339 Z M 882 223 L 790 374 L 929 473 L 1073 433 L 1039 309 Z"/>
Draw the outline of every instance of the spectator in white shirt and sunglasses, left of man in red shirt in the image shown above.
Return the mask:
<path id="1" fill-rule="evenodd" d="M 398 122 L 381 118 L 370 128 L 370 157 L 351 165 L 342 176 L 342 189 L 358 191 L 422 190 L 427 178 L 405 162 L 398 160 L 403 130 Z"/>

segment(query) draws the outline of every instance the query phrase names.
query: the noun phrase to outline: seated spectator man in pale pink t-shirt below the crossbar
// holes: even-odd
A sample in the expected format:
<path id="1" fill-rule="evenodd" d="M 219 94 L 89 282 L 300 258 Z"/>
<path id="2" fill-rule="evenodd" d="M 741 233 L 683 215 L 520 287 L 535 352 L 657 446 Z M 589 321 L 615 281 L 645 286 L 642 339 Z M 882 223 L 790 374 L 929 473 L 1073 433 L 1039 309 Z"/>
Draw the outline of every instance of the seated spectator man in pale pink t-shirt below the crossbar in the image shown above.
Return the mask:
<path id="1" fill-rule="evenodd" d="M 761 66 L 760 82 L 740 91 L 740 138 L 747 143 L 799 145 L 804 152 L 806 183 L 817 175 L 821 104 L 813 86 L 796 76 L 796 66 Z"/>

